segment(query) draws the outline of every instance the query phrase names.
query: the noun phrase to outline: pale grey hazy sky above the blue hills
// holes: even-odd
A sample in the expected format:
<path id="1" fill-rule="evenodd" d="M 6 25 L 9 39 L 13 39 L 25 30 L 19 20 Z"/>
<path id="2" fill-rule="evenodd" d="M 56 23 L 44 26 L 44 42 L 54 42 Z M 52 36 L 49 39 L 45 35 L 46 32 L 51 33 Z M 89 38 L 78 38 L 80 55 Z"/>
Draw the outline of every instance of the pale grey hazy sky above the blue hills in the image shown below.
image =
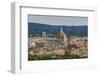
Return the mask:
<path id="1" fill-rule="evenodd" d="M 88 25 L 87 17 L 28 15 L 28 22 L 50 25 Z"/>

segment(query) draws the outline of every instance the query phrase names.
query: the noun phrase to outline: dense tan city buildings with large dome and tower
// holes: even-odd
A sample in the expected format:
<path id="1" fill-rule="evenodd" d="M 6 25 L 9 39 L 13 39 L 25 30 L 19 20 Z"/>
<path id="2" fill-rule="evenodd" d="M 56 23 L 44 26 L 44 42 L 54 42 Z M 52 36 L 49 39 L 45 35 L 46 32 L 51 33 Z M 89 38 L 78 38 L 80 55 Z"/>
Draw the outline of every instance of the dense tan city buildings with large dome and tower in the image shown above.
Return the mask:
<path id="1" fill-rule="evenodd" d="M 87 37 L 69 37 L 61 28 L 56 37 L 47 36 L 42 32 L 42 37 L 28 38 L 28 52 L 31 55 L 78 55 L 88 56 Z"/>

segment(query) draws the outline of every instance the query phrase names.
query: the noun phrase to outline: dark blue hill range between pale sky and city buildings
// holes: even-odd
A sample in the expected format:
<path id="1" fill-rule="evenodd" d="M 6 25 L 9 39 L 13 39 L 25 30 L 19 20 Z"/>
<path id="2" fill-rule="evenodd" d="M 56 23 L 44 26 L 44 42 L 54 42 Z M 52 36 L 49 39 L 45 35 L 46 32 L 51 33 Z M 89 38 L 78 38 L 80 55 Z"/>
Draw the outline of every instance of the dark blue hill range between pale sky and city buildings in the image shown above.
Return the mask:
<path id="1" fill-rule="evenodd" d="M 57 35 L 60 31 L 60 28 L 63 28 L 63 31 L 70 36 L 80 36 L 86 37 L 88 36 L 88 26 L 67 26 L 67 25 L 48 25 L 48 24 L 40 24 L 40 23 L 28 23 L 28 34 L 29 36 L 41 36 L 43 31 L 48 34 Z"/>

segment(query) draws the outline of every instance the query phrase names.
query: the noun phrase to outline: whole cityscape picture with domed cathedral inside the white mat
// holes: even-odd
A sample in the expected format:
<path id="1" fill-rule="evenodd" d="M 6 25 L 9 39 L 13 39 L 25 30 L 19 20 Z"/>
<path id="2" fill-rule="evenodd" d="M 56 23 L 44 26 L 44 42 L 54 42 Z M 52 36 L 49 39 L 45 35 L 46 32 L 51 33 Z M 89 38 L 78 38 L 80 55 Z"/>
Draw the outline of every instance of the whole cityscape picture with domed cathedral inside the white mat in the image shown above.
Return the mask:
<path id="1" fill-rule="evenodd" d="M 28 61 L 88 58 L 88 18 L 28 15 Z"/>

